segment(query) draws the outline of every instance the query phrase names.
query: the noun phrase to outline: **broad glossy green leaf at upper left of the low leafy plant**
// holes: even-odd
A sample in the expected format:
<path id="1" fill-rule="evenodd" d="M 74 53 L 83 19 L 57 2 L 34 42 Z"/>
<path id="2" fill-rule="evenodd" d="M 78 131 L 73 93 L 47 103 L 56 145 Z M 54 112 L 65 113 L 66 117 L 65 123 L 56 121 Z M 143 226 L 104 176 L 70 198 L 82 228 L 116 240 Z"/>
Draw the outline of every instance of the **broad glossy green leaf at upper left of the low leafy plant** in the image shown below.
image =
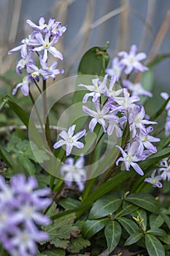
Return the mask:
<path id="1" fill-rule="evenodd" d="M 121 203 L 122 200 L 117 195 L 105 195 L 93 204 L 89 219 L 99 219 L 112 214 L 120 207 Z"/>

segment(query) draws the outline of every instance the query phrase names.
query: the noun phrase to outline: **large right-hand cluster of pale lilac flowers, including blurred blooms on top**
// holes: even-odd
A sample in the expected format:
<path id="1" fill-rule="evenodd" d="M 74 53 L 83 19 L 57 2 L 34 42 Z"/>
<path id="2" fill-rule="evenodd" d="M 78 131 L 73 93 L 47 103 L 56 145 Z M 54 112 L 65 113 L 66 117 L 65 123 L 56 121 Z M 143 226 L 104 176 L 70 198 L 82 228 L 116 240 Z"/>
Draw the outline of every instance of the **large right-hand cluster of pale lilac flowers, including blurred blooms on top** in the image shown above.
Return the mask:
<path id="1" fill-rule="evenodd" d="M 136 173 L 144 175 L 143 170 L 136 162 L 146 159 L 150 154 L 155 154 L 157 149 L 152 143 L 158 142 L 160 139 L 150 135 L 153 130 L 151 125 L 157 123 L 145 118 L 144 107 L 136 103 L 140 100 L 139 94 L 149 97 L 152 97 L 152 94 L 142 89 L 139 84 L 134 86 L 129 80 L 120 80 L 123 71 L 129 75 L 133 70 L 136 72 L 147 70 L 147 67 L 140 63 L 142 59 L 146 58 L 146 54 L 136 54 L 136 50 L 136 45 L 132 45 L 130 53 L 124 51 L 118 53 L 120 60 L 116 57 L 112 61 L 114 67 L 106 70 L 107 75 L 104 80 L 100 81 L 99 78 L 95 78 L 92 80 L 93 85 L 80 84 L 79 86 L 90 91 L 85 94 L 82 102 L 86 103 L 88 98 L 92 99 L 92 108 L 88 108 L 87 105 L 82 106 L 84 112 L 92 117 L 89 123 L 90 132 L 93 132 L 96 124 L 100 124 L 107 135 L 110 136 L 115 131 L 117 138 L 123 138 L 123 129 L 128 129 L 131 136 L 123 148 L 117 146 L 122 157 L 117 159 L 116 165 L 123 162 L 122 170 L 130 170 L 130 167 L 133 167 Z M 107 85 L 108 75 L 111 75 L 109 86 Z M 122 83 L 117 89 L 116 82 L 118 80 Z"/>

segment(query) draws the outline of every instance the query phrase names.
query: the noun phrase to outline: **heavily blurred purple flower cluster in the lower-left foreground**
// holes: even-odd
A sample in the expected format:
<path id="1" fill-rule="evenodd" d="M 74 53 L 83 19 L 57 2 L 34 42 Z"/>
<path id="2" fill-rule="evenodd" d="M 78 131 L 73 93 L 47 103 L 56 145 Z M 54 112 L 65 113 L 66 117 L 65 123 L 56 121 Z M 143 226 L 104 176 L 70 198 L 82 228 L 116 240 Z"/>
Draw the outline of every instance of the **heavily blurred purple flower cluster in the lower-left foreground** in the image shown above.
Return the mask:
<path id="1" fill-rule="evenodd" d="M 50 219 L 41 214 L 50 206 L 50 189 L 36 189 L 34 177 L 18 174 L 7 184 L 0 176 L 0 241 L 10 255 L 36 255 L 36 242 L 46 241 L 47 233 L 36 225 L 49 225 Z"/>

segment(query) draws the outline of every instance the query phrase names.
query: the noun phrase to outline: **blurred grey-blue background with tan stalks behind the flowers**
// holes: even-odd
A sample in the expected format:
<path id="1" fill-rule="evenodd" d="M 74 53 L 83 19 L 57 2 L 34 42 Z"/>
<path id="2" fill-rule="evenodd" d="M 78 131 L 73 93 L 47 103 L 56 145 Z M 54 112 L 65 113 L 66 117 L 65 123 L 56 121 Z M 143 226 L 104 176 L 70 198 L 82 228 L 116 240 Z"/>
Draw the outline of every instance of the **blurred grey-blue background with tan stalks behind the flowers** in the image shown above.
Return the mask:
<path id="1" fill-rule="evenodd" d="M 132 44 L 147 53 L 147 61 L 170 53 L 169 0 L 0 0 L 0 8 L 1 80 L 5 75 L 7 78 L 9 69 L 15 69 L 17 55 L 7 56 L 7 51 L 29 34 L 26 19 L 38 23 L 40 15 L 46 20 L 55 17 L 67 25 L 58 45 L 65 77 L 77 73 L 86 50 L 102 47 L 107 41 L 111 58 L 119 50 L 129 50 Z M 154 90 L 170 93 L 169 67 L 168 58 L 155 67 Z"/>

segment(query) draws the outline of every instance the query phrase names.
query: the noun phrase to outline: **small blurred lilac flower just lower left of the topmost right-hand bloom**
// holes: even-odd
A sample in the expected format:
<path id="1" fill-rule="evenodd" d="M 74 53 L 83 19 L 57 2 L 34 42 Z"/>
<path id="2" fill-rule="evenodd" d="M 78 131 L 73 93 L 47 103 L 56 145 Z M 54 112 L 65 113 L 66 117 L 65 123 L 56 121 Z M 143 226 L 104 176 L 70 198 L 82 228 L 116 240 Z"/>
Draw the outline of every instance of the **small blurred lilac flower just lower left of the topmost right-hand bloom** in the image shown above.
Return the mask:
<path id="1" fill-rule="evenodd" d="M 117 57 L 112 59 L 112 68 L 108 68 L 105 70 L 108 75 L 112 77 L 112 75 L 116 76 L 116 81 L 119 80 L 120 75 L 123 72 L 123 66 L 120 65 L 120 61 Z"/>

